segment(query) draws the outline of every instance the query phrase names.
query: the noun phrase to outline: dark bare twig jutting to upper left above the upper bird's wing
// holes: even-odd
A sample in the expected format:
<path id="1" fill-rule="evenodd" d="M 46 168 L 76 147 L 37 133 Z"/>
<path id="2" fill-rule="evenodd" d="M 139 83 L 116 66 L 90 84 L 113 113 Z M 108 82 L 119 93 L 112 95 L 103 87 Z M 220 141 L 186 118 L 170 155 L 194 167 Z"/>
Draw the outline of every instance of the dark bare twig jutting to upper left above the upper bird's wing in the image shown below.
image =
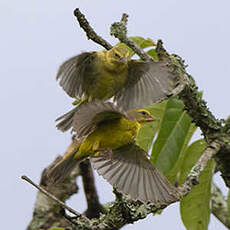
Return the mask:
<path id="1" fill-rule="evenodd" d="M 85 15 L 82 14 L 78 8 L 74 10 L 74 16 L 76 16 L 80 27 L 86 32 L 88 39 L 93 40 L 94 42 L 103 46 L 107 50 L 113 48 L 111 44 L 109 44 L 105 39 L 103 39 L 94 31 L 94 29 L 89 25 L 89 22 L 87 21 Z"/>

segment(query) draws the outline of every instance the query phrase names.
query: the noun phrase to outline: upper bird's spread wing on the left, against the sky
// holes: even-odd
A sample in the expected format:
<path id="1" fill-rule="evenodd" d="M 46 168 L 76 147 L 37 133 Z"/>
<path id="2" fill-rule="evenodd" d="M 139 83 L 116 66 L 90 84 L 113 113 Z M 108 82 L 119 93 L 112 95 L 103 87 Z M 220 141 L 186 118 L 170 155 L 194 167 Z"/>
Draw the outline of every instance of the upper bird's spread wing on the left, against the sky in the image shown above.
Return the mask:
<path id="1" fill-rule="evenodd" d="M 90 85 L 90 81 L 94 80 L 94 75 L 97 74 L 94 68 L 95 58 L 96 52 L 84 52 L 60 66 L 56 79 L 70 97 L 81 97 L 87 84 Z"/>

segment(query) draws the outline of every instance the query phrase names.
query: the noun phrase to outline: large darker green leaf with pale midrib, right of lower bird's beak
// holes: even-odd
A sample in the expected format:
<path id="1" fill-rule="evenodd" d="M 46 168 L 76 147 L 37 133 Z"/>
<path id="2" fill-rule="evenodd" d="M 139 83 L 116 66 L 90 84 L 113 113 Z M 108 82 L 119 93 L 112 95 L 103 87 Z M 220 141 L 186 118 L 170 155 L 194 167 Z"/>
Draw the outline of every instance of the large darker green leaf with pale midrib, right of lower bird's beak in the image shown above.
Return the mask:
<path id="1" fill-rule="evenodd" d="M 151 161 L 165 175 L 175 167 L 186 142 L 191 118 L 183 111 L 183 102 L 173 98 L 168 100 L 160 131 L 153 145 Z"/>

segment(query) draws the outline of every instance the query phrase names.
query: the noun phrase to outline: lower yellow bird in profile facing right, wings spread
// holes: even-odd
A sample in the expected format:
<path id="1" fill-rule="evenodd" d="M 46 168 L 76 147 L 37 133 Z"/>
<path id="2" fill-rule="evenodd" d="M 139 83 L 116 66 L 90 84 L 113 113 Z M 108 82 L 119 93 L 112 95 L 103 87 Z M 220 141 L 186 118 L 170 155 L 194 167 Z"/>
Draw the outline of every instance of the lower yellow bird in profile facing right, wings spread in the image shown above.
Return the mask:
<path id="1" fill-rule="evenodd" d="M 97 100 L 83 104 L 73 121 L 73 128 L 83 141 L 51 168 L 50 180 L 60 182 L 76 163 L 90 157 L 100 175 L 134 200 L 169 203 L 177 199 L 176 188 L 135 144 L 141 125 L 153 120 L 144 109 L 123 112 L 110 102 Z"/>

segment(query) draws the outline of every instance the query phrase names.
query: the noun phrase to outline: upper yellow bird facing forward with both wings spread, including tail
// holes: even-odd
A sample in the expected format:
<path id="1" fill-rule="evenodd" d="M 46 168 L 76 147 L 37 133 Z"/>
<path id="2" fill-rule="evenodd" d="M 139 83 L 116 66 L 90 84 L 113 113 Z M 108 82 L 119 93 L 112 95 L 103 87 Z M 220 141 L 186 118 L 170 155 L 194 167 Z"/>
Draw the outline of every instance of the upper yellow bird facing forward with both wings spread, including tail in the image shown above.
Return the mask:
<path id="1" fill-rule="evenodd" d="M 125 111 L 159 102 L 179 84 L 167 58 L 158 62 L 130 60 L 123 46 L 70 58 L 60 66 L 57 80 L 70 97 L 80 97 L 81 103 L 114 97 Z M 77 109 L 57 118 L 57 128 L 68 130 Z"/>

